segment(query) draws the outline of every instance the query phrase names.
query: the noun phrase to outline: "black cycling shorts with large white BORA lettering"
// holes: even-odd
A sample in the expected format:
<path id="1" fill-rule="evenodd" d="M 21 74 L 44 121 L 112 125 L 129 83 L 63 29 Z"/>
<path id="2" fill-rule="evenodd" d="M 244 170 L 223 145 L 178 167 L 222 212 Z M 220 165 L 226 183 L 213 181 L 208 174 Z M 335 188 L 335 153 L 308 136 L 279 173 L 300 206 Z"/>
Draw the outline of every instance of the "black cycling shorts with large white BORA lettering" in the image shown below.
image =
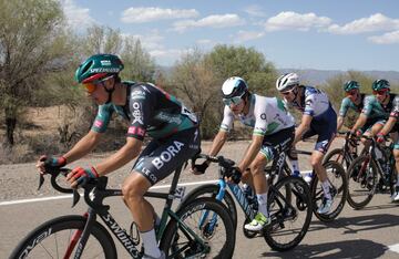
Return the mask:
<path id="1" fill-rule="evenodd" d="M 200 145 L 197 127 L 177 132 L 167 138 L 153 139 L 137 157 L 133 172 L 142 174 L 151 185 L 155 185 L 196 155 Z"/>

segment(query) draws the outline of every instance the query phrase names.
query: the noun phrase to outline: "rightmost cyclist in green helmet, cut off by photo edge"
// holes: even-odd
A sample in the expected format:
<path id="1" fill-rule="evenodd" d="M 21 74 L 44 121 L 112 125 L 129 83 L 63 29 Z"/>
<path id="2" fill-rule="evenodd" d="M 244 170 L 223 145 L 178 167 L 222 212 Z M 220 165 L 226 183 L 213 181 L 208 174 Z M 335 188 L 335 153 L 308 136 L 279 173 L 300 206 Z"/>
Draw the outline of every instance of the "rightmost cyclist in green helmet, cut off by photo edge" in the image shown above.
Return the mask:
<path id="1" fill-rule="evenodd" d="M 377 142 L 385 142 L 385 136 L 390 134 L 395 143 L 393 156 L 396 160 L 397 183 L 396 191 L 391 198 L 393 201 L 399 201 L 399 95 L 390 93 L 390 85 L 387 80 L 376 80 L 371 87 L 375 96 L 365 103 L 362 114 L 364 117 L 367 117 L 372 112 L 379 114 L 382 120 L 372 128 L 374 135 L 377 136 Z M 362 122 L 359 124 L 361 125 L 361 123 Z"/>

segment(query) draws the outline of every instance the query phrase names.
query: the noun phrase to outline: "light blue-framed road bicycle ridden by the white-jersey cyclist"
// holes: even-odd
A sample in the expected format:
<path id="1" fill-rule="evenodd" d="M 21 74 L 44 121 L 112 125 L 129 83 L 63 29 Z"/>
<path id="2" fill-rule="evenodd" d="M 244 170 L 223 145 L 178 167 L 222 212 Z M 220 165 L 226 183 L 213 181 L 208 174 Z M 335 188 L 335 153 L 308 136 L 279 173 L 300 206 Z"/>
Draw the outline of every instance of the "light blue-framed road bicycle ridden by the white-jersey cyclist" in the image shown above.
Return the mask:
<path id="1" fill-rule="evenodd" d="M 221 200 L 225 204 L 227 209 L 231 211 L 234 226 L 237 226 L 237 209 L 234 203 L 235 198 L 245 214 L 244 225 L 252 221 L 257 213 L 256 198 L 248 199 L 238 185 L 229 183 L 225 179 L 229 176 L 232 166 L 234 166 L 235 163 L 231 159 L 224 158 L 223 156 L 213 157 L 200 154 L 196 158 L 204 158 L 212 163 L 217 163 L 219 168 L 219 179 L 217 184 L 202 185 L 193 189 L 184 197 L 181 206 L 185 206 L 198 197 L 213 197 L 214 199 Z M 280 159 L 276 160 L 274 166 L 282 167 L 285 155 L 283 155 Z M 195 164 L 195 159 L 193 163 Z M 274 174 L 274 172 L 277 170 L 273 170 L 270 173 Z M 265 227 L 260 234 L 264 236 L 265 241 L 272 249 L 286 251 L 296 247 L 305 237 L 309 228 L 313 208 L 310 190 L 306 182 L 299 177 L 287 176 L 279 179 L 276 184 L 272 184 L 272 178 L 268 180 L 270 184 L 267 206 L 272 222 Z M 227 191 L 227 188 L 231 190 L 233 196 Z M 206 216 L 204 216 L 204 218 L 206 218 Z M 247 238 L 253 238 L 258 234 L 246 230 L 244 225 L 243 230 Z"/>

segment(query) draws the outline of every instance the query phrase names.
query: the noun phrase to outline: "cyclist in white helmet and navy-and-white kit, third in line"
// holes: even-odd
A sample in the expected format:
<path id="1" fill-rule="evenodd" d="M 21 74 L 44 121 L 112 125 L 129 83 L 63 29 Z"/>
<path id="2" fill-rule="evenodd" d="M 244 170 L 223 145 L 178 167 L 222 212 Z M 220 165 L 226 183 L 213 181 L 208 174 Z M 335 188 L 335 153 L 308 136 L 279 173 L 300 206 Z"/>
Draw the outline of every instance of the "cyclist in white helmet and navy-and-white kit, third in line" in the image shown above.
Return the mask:
<path id="1" fill-rule="evenodd" d="M 324 191 L 324 199 L 317 213 L 328 214 L 335 194 L 330 191 L 331 186 L 321 163 L 337 131 L 337 114 L 328 96 L 318 89 L 300 85 L 299 76 L 296 73 L 280 75 L 276 81 L 276 89 L 284 96 L 288 107 L 294 107 L 303 113 L 301 122 L 295 131 L 293 146 L 300 139 L 318 135 L 310 164 Z M 311 175 L 307 175 L 305 180 L 310 182 Z"/>

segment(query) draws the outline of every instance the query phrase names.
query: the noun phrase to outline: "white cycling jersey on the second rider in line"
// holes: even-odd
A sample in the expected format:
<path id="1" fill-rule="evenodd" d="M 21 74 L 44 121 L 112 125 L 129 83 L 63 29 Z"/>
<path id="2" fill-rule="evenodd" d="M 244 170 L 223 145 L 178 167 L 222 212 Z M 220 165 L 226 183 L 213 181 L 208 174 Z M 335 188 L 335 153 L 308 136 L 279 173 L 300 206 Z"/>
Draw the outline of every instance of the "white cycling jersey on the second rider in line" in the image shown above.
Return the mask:
<path id="1" fill-rule="evenodd" d="M 285 108 L 282 100 L 265 97 L 257 94 L 249 96 L 248 114 L 235 116 L 226 105 L 221 130 L 229 131 L 234 120 L 241 121 L 244 125 L 254 128 L 254 135 L 270 135 L 284 128 L 293 127 L 295 120 Z"/>

